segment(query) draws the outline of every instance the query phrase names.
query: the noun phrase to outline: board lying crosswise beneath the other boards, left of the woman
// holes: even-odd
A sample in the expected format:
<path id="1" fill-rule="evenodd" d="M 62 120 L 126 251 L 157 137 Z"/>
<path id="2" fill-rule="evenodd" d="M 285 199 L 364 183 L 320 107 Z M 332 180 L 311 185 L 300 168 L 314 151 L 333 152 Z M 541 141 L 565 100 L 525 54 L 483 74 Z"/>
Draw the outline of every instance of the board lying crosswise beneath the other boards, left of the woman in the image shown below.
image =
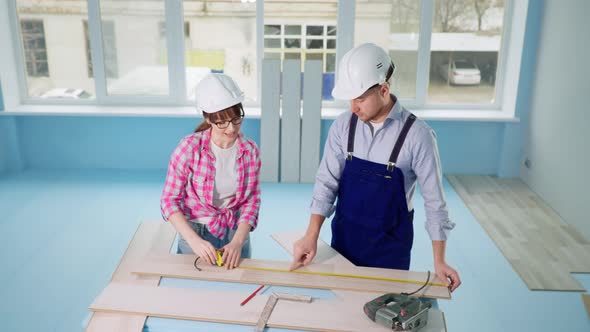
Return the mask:
<path id="1" fill-rule="evenodd" d="M 130 264 L 141 259 L 146 253 L 165 254 L 170 251 L 176 231 L 169 223 L 143 222 L 137 228 L 125 254 L 112 275 L 112 281 L 157 286 L 160 277 L 139 277 L 132 274 Z M 94 313 L 88 322 L 86 332 L 140 332 L 146 315 L 123 315 L 120 313 Z"/>

